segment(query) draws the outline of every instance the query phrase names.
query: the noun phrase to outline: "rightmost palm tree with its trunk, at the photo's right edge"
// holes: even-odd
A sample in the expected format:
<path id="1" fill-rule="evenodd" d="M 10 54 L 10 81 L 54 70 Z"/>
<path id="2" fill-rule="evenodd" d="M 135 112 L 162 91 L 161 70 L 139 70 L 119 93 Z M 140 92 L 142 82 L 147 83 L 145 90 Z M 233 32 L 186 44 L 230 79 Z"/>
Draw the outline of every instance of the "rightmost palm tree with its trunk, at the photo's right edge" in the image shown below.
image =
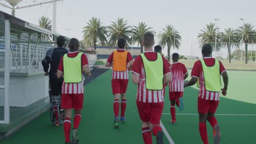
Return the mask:
<path id="1" fill-rule="evenodd" d="M 256 31 L 254 26 L 251 23 L 245 23 L 245 25 L 238 27 L 236 29 L 236 34 L 243 43 L 245 43 L 245 52 L 246 52 L 246 64 L 247 64 L 247 53 L 248 53 L 248 44 L 253 44 L 256 42 Z"/>

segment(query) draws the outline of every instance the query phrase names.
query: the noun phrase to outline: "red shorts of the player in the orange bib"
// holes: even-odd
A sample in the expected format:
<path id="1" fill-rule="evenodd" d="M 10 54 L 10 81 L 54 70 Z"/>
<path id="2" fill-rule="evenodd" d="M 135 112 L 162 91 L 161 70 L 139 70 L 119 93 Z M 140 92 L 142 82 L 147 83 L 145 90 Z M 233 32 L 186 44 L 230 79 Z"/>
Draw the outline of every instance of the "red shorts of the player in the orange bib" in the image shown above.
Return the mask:
<path id="1" fill-rule="evenodd" d="M 127 85 L 129 80 L 113 79 L 112 82 L 112 93 L 122 94 L 126 93 Z"/>

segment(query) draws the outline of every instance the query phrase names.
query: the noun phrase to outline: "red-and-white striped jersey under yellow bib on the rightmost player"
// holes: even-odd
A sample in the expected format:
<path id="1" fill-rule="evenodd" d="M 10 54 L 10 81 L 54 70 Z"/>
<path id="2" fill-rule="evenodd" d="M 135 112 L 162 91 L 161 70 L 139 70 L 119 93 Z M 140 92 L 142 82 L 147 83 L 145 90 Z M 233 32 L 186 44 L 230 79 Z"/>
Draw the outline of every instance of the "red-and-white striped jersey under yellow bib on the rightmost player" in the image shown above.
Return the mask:
<path id="1" fill-rule="evenodd" d="M 204 57 L 203 60 L 205 61 L 208 67 L 213 66 L 215 63 L 215 59 L 212 57 Z M 226 71 L 222 62 L 220 61 L 219 61 L 219 67 L 220 67 L 219 74 L 222 74 L 224 71 Z M 202 64 L 200 61 L 195 62 L 194 67 L 191 71 L 191 76 L 199 79 L 200 89 L 199 89 L 198 97 L 201 97 L 202 99 L 206 99 L 206 100 L 219 100 L 220 92 L 207 91 L 205 88 L 205 80 L 203 77 Z"/>

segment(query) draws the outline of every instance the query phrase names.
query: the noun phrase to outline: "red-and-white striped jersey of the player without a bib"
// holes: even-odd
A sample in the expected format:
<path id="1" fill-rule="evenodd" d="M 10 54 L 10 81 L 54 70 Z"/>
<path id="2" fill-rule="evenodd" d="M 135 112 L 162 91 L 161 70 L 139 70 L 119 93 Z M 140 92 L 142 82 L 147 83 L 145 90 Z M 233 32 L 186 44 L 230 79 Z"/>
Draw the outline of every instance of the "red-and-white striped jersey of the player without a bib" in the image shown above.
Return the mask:
<path id="1" fill-rule="evenodd" d="M 180 62 L 170 66 L 172 81 L 169 83 L 170 92 L 184 92 L 184 75 L 188 73 L 187 68 Z"/>

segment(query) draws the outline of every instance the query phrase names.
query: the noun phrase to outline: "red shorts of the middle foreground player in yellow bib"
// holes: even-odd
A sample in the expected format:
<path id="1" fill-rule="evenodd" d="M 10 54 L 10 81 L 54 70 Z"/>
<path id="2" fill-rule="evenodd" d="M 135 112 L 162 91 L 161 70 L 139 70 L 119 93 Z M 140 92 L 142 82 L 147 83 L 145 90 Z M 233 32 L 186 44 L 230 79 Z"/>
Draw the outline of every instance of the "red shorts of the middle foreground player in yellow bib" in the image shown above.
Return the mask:
<path id="1" fill-rule="evenodd" d="M 137 108 L 142 121 L 160 124 L 164 103 L 142 103 L 137 100 Z"/>

